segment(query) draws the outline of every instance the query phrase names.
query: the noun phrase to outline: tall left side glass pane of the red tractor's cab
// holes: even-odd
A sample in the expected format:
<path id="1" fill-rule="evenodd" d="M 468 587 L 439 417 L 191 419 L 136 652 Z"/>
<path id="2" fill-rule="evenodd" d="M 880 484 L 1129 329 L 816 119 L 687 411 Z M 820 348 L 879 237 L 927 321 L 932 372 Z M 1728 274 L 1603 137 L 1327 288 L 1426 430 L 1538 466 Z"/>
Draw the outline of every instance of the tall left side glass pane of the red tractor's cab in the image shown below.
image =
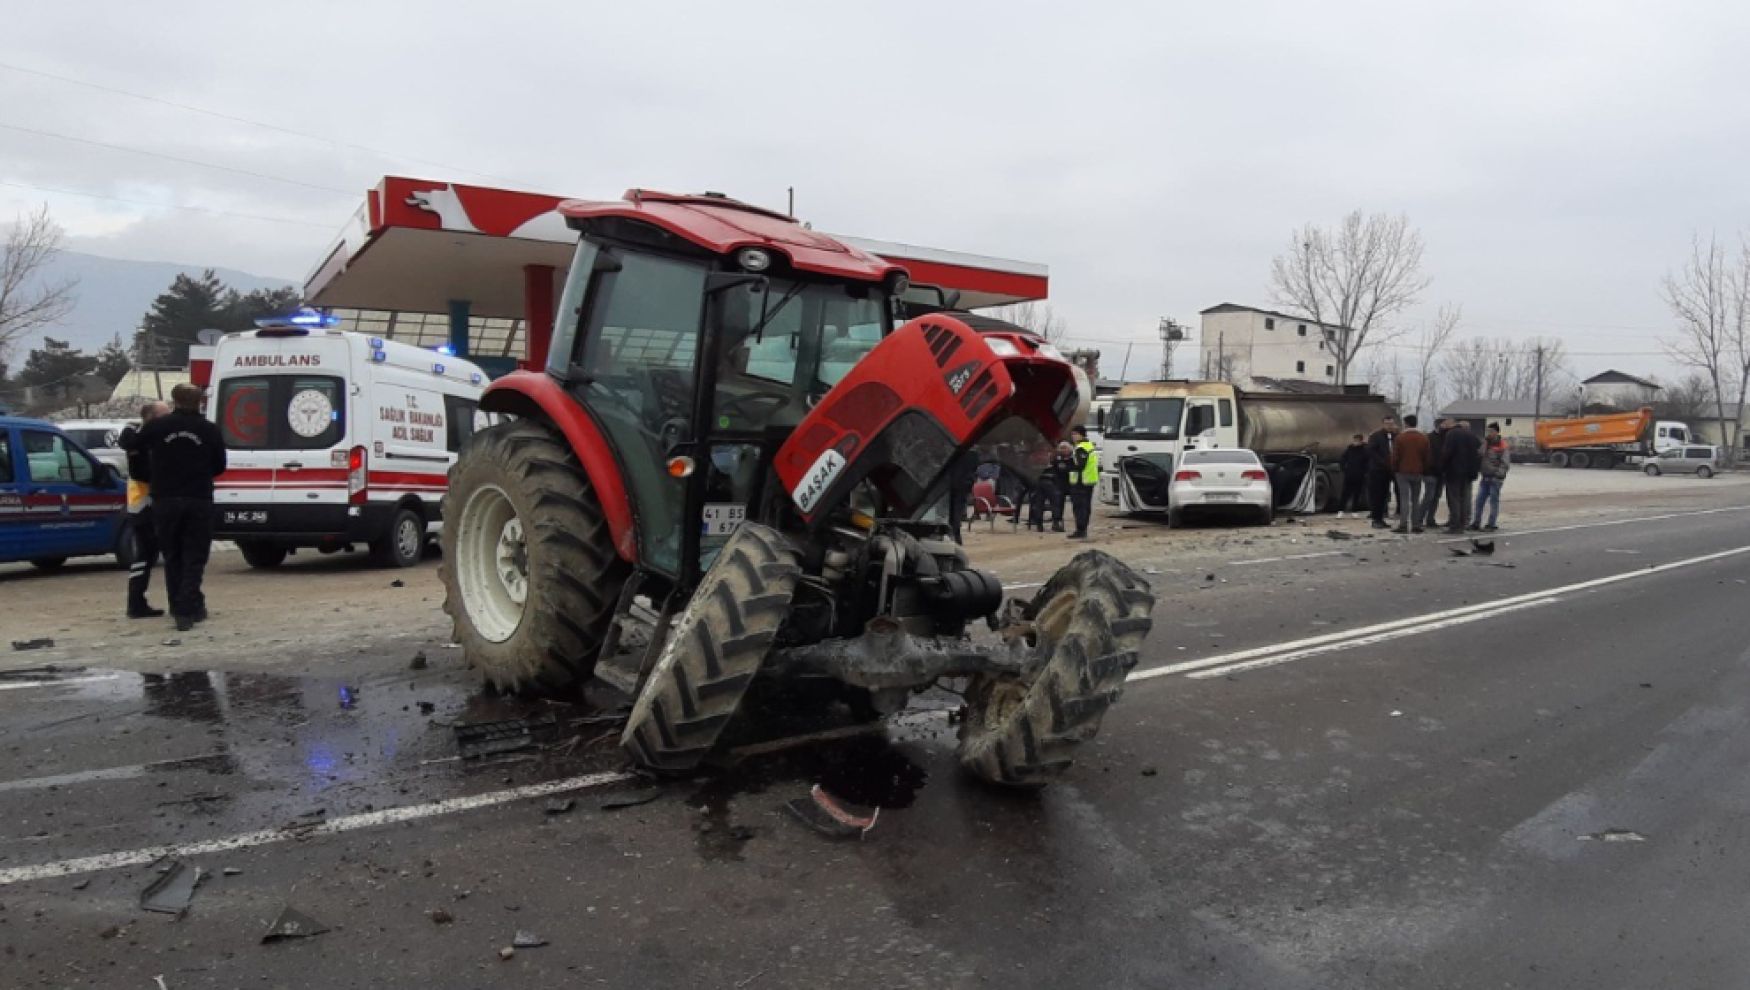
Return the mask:
<path id="1" fill-rule="evenodd" d="M 693 436 L 693 374 L 705 266 L 626 254 L 597 275 L 584 320 L 579 399 L 614 446 L 637 505 L 642 561 L 679 574 L 684 488 L 668 450 Z M 696 525 L 696 523 L 695 523 Z"/>

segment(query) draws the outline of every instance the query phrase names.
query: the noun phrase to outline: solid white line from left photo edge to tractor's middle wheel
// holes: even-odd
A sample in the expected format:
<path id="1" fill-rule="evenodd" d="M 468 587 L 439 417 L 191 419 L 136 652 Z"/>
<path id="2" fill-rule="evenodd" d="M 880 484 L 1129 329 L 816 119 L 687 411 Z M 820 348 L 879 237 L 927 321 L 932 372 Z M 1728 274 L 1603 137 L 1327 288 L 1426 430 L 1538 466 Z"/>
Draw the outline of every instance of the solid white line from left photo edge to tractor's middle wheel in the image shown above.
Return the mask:
<path id="1" fill-rule="evenodd" d="M 329 819 L 322 824 L 312 827 L 285 827 L 285 829 L 261 829 L 254 833 L 243 833 L 234 836 L 224 836 L 215 840 L 175 843 L 175 845 L 154 845 L 145 848 L 133 848 L 124 852 L 105 852 L 100 855 L 86 855 L 80 859 L 61 859 L 56 862 L 38 862 L 33 866 L 14 866 L 10 869 L 0 869 L 0 887 L 10 883 L 24 883 L 30 880 L 52 880 L 56 876 L 74 876 L 77 873 L 98 873 L 102 869 L 117 869 L 122 866 L 144 866 L 147 862 L 156 862 L 166 855 L 212 855 L 215 852 L 233 852 L 238 848 L 250 848 L 257 845 L 271 845 L 290 840 L 303 840 L 312 836 L 332 836 L 340 833 L 352 833 L 357 829 L 374 829 L 378 826 L 392 826 L 399 822 L 416 822 L 420 819 L 432 819 L 438 815 L 453 815 L 457 812 L 472 812 L 476 808 L 492 808 L 497 805 L 508 805 L 511 801 L 523 801 L 528 798 L 546 798 L 550 794 L 565 794 L 569 791 L 588 791 L 592 787 L 606 787 L 609 784 L 623 784 L 626 780 L 637 780 L 635 773 L 584 773 L 583 777 L 567 777 L 564 780 L 548 780 L 546 784 L 528 784 L 523 787 L 509 787 L 506 791 L 488 791 L 485 794 L 471 794 L 467 798 L 446 798 L 443 801 L 429 801 L 425 805 L 406 805 L 401 808 L 383 808 L 382 812 L 366 812 L 362 815 L 343 815 L 340 819 Z"/>

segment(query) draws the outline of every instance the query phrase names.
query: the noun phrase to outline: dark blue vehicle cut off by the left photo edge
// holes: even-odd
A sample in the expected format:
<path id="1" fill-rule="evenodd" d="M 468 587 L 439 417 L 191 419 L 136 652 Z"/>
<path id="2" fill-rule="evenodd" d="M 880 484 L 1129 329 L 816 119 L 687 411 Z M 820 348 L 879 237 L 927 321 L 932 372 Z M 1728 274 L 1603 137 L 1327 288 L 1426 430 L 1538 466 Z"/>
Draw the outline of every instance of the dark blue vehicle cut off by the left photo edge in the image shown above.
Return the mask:
<path id="1" fill-rule="evenodd" d="M 0 561 L 52 570 L 112 553 L 126 565 L 131 551 L 121 472 L 54 423 L 0 416 Z"/>

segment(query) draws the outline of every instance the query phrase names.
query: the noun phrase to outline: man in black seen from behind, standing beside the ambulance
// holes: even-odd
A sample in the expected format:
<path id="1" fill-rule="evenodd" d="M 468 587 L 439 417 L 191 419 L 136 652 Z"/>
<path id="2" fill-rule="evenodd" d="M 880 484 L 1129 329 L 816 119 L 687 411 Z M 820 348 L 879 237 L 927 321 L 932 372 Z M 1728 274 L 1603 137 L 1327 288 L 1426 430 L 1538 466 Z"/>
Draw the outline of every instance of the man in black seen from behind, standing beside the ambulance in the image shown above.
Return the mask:
<path id="1" fill-rule="evenodd" d="M 224 474 L 224 437 L 201 416 L 201 388 L 177 385 L 175 409 L 140 429 L 135 444 L 152 471 L 152 516 L 164 554 L 164 586 L 177 630 L 206 617 L 201 577 L 214 542 L 214 478 Z"/>

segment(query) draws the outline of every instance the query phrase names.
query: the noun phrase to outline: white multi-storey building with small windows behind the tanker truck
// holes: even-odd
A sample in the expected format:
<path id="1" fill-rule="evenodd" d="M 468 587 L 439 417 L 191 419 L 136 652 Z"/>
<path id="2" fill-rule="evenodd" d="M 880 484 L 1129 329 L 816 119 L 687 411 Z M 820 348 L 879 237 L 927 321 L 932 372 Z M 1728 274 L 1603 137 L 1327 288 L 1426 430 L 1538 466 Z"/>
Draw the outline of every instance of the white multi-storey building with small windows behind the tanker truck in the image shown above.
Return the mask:
<path id="1" fill-rule="evenodd" d="M 1242 388 L 1255 378 L 1337 381 L 1334 327 L 1236 303 L 1209 306 L 1200 315 L 1199 378 Z"/>

